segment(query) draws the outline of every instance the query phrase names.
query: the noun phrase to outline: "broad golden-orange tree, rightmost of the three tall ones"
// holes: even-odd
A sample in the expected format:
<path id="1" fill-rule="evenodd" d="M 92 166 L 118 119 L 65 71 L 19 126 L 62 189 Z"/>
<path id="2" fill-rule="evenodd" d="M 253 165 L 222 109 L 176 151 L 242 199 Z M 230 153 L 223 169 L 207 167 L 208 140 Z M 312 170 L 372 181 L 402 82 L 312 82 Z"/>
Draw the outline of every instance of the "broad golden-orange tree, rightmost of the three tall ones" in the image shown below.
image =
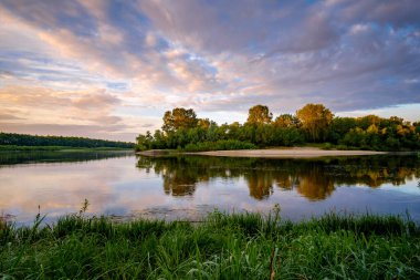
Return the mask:
<path id="1" fill-rule="evenodd" d="M 333 113 L 323 104 L 306 104 L 296 112 L 297 118 L 302 123 L 302 128 L 308 134 L 312 141 L 324 139 L 329 124 L 333 121 Z"/>

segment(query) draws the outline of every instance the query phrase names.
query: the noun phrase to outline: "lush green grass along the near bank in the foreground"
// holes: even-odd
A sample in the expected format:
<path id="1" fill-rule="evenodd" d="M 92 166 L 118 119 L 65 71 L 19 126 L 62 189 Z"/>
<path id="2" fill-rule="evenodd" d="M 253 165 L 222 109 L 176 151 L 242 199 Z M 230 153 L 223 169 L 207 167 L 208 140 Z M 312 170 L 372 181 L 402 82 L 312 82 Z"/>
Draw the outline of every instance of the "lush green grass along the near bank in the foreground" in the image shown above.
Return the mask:
<path id="1" fill-rule="evenodd" d="M 199 225 L 69 216 L 0 224 L 3 279 L 420 279 L 420 228 L 397 217 L 281 221 L 213 212 Z"/>

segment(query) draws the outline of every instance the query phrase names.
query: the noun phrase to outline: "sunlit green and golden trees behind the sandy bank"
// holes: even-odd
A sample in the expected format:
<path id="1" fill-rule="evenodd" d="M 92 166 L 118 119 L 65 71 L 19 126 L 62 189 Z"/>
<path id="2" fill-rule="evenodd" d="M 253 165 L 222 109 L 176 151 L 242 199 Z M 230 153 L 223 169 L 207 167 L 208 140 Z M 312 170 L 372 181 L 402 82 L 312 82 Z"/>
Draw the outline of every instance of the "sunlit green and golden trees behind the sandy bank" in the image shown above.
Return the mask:
<path id="1" fill-rule="evenodd" d="M 322 148 L 419 151 L 420 122 L 376 115 L 338 117 L 323 104 L 307 104 L 296 114 L 273 114 L 265 105 L 249 110 L 244 124 L 218 125 L 198 118 L 192 108 L 177 107 L 164 115 L 161 129 L 137 137 L 137 151 L 249 149 L 315 145 Z"/>

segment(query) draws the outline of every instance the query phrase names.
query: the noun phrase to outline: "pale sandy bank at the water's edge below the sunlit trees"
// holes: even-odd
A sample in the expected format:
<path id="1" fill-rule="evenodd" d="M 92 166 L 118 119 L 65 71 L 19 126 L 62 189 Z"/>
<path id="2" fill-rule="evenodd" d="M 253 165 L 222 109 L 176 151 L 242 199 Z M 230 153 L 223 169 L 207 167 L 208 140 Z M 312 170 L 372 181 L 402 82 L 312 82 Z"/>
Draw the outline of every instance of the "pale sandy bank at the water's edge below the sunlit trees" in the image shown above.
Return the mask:
<path id="1" fill-rule="evenodd" d="M 188 153 L 193 155 L 207 156 L 232 156 L 232 157 L 288 157 L 288 158 L 303 158 L 303 157 L 321 157 L 321 156 L 367 156 L 367 155 L 382 155 L 387 152 L 375 151 L 336 151 L 336 149 L 319 149 L 313 147 L 293 147 L 285 149 L 238 149 L 238 151 L 211 151 Z"/>

